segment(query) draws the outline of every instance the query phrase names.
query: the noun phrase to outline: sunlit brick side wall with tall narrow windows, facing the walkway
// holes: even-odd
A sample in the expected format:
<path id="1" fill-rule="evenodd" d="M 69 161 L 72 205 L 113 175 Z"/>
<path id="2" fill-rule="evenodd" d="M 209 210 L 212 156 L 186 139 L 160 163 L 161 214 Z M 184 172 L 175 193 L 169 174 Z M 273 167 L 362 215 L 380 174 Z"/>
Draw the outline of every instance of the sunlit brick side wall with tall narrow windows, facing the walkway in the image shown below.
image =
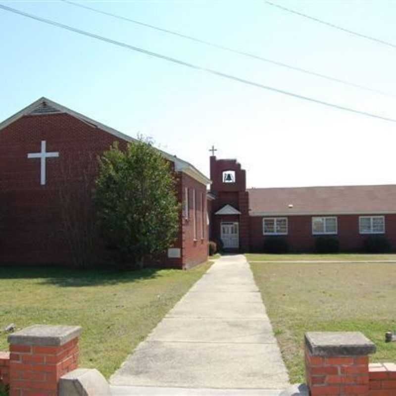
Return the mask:
<path id="1" fill-rule="evenodd" d="M 182 219 L 182 261 L 183 268 L 191 268 L 203 261 L 208 256 L 208 227 L 207 227 L 207 200 L 206 186 L 186 174 L 182 174 L 182 198 L 185 199 L 185 189 L 188 189 L 189 216 Z M 193 192 L 196 192 L 196 238 L 194 238 L 194 207 Z M 201 194 L 203 208 L 201 207 Z M 202 212 L 203 210 L 203 212 Z M 184 208 L 182 208 L 182 213 Z M 201 234 L 203 226 L 203 237 Z"/>

